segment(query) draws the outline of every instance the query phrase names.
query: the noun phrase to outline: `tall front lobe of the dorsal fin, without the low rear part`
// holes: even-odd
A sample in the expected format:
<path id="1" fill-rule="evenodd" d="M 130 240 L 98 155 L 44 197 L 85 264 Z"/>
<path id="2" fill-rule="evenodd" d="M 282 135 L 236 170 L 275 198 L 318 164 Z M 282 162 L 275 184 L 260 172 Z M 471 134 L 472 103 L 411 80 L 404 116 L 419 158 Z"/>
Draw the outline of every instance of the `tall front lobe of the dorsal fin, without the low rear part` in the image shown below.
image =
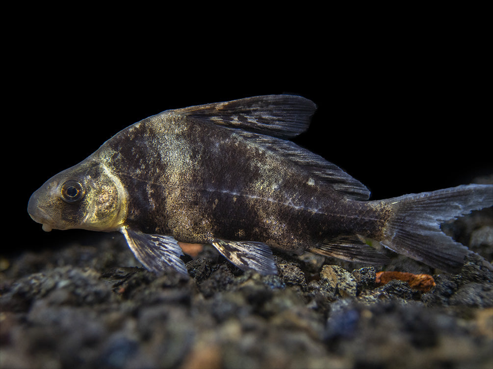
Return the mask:
<path id="1" fill-rule="evenodd" d="M 196 105 L 173 110 L 189 119 L 280 138 L 292 138 L 307 130 L 317 105 L 296 95 L 263 95 Z"/>

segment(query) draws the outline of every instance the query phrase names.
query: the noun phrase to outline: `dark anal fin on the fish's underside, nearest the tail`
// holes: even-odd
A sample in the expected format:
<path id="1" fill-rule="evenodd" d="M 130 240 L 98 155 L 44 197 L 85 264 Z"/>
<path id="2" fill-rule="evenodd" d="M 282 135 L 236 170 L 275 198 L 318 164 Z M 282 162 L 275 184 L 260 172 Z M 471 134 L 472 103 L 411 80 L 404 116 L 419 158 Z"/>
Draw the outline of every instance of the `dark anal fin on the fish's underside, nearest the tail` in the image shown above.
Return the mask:
<path id="1" fill-rule="evenodd" d="M 339 235 L 308 250 L 324 256 L 369 265 L 384 265 L 389 262 L 387 256 L 366 245 L 356 235 Z"/>

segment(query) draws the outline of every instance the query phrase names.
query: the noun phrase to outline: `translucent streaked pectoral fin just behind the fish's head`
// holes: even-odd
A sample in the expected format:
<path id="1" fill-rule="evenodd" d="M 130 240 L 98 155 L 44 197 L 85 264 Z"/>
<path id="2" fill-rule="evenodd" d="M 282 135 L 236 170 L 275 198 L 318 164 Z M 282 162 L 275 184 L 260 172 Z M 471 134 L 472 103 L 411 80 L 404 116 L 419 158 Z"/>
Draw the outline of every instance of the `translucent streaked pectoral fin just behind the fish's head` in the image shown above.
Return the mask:
<path id="1" fill-rule="evenodd" d="M 150 235 L 128 227 L 122 227 L 120 232 L 125 236 L 135 257 L 148 271 L 158 273 L 172 267 L 177 272 L 188 275 L 185 263 L 180 259 L 183 251 L 173 237 Z"/>

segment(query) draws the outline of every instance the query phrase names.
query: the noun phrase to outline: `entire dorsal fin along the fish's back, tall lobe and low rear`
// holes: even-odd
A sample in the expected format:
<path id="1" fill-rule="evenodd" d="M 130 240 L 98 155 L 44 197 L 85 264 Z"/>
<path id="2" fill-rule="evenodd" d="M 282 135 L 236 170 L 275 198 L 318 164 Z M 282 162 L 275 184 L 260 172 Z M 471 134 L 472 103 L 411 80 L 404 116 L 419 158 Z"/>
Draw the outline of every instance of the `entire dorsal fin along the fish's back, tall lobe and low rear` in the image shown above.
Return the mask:
<path id="1" fill-rule="evenodd" d="M 264 95 L 190 106 L 173 110 L 173 113 L 203 123 L 235 128 L 232 130 L 236 134 L 289 160 L 347 198 L 368 200 L 370 191 L 337 165 L 284 140 L 304 132 L 316 108 L 313 101 L 301 96 Z"/>

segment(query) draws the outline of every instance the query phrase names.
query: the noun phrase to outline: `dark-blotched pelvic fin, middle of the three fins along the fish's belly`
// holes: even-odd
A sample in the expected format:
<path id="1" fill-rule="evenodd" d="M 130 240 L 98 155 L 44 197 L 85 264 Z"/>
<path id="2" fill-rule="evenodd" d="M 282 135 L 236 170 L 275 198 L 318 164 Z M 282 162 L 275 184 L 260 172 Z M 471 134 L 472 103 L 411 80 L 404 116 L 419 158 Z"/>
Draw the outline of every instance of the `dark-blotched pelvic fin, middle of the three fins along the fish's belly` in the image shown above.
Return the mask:
<path id="1" fill-rule="evenodd" d="M 253 269 L 262 275 L 277 274 L 272 250 L 261 242 L 214 240 L 211 244 L 242 270 Z"/>

